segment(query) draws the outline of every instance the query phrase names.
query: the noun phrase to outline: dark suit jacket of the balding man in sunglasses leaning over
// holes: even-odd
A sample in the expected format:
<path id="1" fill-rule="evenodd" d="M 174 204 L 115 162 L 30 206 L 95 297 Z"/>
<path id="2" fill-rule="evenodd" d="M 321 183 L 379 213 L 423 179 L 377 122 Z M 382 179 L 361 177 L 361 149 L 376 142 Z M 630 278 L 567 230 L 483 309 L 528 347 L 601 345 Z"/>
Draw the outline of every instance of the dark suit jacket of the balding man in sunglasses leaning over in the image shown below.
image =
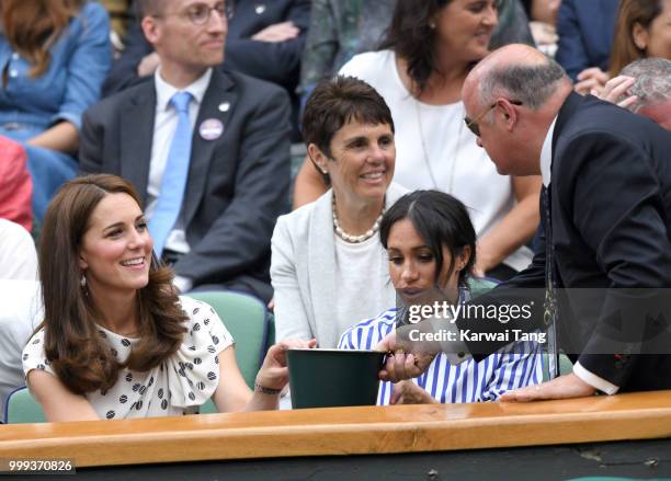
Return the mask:
<path id="1" fill-rule="evenodd" d="M 642 335 L 646 309 L 660 300 L 642 288 L 671 287 L 669 152 L 671 134 L 648 118 L 576 93 L 561 107 L 553 137 L 554 275 L 566 289 L 559 342 L 585 369 L 623 391 L 671 388 L 671 356 L 627 355 L 618 351 L 622 343 L 612 342 L 614 325 Z M 527 270 L 479 301 L 503 304 L 515 289 L 537 288 L 535 302 L 543 306 L 544 233 L 538 244 Z M 469 348 L 484 352 L 481 345 Z"/>

